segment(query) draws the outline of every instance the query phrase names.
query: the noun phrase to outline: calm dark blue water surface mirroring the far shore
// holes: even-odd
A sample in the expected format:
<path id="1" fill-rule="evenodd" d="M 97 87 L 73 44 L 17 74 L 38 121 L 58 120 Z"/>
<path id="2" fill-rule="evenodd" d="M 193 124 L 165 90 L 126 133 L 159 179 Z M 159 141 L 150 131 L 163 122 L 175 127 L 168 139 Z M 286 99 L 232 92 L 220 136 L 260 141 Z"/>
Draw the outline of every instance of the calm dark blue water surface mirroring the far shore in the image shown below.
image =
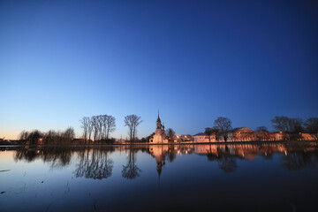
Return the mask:
<path id="1" fill-rule="evenodd" d="M 1 150 L 0 211 L 317 211 L 317 143 Z"/>

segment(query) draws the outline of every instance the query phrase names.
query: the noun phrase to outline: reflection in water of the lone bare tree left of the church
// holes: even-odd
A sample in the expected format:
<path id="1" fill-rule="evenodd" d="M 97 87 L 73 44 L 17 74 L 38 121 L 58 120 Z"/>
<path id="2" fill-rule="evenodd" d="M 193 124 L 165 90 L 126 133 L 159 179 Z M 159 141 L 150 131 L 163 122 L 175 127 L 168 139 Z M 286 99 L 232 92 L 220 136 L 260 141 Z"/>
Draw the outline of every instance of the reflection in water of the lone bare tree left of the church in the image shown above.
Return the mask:
<path id="1" fill-rule="evenodd" d="M 133 151 L 133 148 L 129 149 L 129 155 L 127 164 L 123 165 L 122 176 L 123 178 L 133 179 L 136 177 L 140 177 L 140 168 L 136 164 L 136 157 Z"/>

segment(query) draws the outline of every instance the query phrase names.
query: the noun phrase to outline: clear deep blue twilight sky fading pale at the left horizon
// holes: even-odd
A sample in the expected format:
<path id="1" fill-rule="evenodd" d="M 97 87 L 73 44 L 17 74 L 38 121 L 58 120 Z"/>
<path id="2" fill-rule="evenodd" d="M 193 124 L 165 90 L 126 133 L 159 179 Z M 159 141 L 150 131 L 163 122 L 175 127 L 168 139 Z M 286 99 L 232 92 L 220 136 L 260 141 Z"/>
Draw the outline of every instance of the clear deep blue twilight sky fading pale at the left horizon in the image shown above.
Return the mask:
<path id="1" fill-rule="evenodd" d="M 124 117 L 195 134 L 318 117 L 313 1 L 0 1 L 0 138 Z"/>

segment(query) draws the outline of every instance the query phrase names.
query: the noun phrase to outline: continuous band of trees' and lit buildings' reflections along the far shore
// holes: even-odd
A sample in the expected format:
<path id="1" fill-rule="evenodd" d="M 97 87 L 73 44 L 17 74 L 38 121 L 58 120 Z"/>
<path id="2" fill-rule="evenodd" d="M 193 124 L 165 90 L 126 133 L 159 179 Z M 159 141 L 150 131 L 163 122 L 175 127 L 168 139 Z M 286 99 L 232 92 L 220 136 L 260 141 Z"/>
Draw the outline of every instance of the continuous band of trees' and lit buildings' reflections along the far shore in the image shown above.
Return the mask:
<path id="1" fill-rule="evenodd" d="M 3 148 L 4 149 L 4 148 Z M 261 156 L 272 160 L 274 154 L 282 157 L 281 165 L 287 170 L 299 170 L 317 163 L 317 143 L 268 143 L 268 144 L 236 144 L 236 145 L 153 145 L 153 146 L 112 146 L 112 147 L 38 147 L 16 149 L 14 160 L 16 162 L 33 162 L 41 159 L 48 163 L 51 169 L 60 169 L 77 157 L 76 178 L 102 179 L 110 178 L 114 161 L 110 153 L 116 150 L 125 150 L 126 163 L 122 166 L 122 177 L 133 179 L 140 177 L 141 170 L 137 165 L 138 151 L 148 153 L 155 158 L 154 165 L 160 177 L 166 160 L 173 163 L 181 155 L 206 155 L 209 162 L 216 162 L 220 170 L 231 173 L 238 169 L 238 160 L 253 161 Z"/>

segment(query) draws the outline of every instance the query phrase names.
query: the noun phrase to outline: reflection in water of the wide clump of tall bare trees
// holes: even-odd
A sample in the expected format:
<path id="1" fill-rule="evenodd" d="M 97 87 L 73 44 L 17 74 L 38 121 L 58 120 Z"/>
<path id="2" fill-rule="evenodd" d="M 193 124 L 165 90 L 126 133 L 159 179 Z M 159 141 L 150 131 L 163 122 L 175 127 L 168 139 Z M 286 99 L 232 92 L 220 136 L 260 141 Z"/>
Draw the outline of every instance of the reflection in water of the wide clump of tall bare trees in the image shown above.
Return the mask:
<path id="1" fill-rule="evenodd" d="M 109 149 L 92 149 L 79 154 L 79 164 L 74 171 L 76 178 L 110 178 L 113 160 L 108 156 Z"/>

